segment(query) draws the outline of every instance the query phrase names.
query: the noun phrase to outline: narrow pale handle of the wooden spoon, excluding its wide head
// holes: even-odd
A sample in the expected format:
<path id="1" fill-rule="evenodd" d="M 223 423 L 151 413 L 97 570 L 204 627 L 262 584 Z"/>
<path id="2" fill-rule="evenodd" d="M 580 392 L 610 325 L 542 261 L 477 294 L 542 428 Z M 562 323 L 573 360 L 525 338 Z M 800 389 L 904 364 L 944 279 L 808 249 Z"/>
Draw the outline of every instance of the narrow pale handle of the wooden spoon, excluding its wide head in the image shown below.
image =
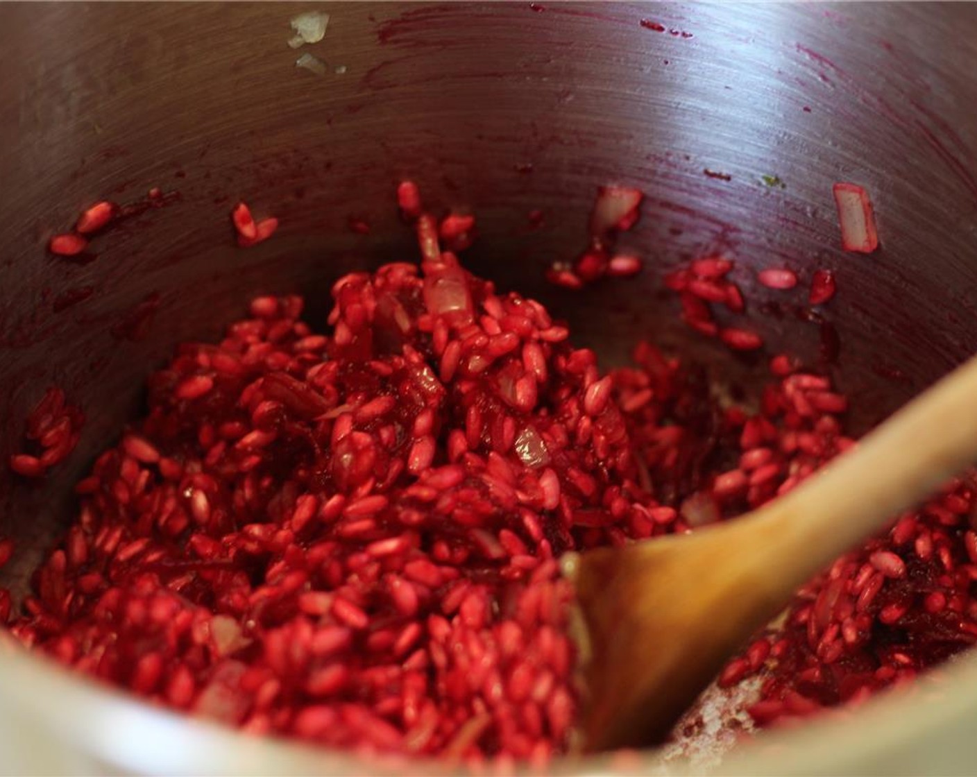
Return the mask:
<path id="1" fill-rule="evenodd" d="M 767 556 L 771 584 L 795 586 L 975 461 L 977 357 L 971 357 L 743 524 L 764 535 L 758 549 Z"/>

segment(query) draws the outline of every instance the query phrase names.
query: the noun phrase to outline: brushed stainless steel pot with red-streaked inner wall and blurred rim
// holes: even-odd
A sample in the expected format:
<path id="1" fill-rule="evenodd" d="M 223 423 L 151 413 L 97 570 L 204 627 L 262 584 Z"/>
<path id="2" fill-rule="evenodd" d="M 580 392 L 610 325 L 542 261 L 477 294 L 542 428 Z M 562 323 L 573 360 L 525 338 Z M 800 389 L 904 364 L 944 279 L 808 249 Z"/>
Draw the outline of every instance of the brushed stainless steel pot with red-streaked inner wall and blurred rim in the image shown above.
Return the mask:
<path id="1" fill-rule="evenodd" d="M 292 49 L 289 20 L 309 10 L 330 15 L 326 34 Z M 609 361 L 651 333 L 749 381 L 751 365 L 689 339 L 661 293 L 664 269 L 705 250 L 805 281 L 836 271 L 826 321 L 775 304 L 749 315 L 772 348 L 812 360 L 836 334 L 829 367 L 862 428 L 977 341 L 972 5 L 9 3 L 0 22 L 0 458 L 51 384 L 87 415 L 43 486 L 0 473 L 0 534 L 19 546 L 3 582 L 16 591 L 64 524 L 71 483 L 175 343 L 215 337 L 255 291 L 324 307 L 338 274 L 413 255 L 392 197 L 404 176 L 430 202 L 477 211 L 474 269 L 551 304 Z M 305 55 L 316 59 L 296 66 Z M 542 268 L 575 253 L 594 188 L 611 181 L 647 194 L 627 241 L 652 270 L 584 295 L 548 287 Z M 871 193 L 876 253 L 839 249 L 834 181 Z M 101 238 L 91 263 L 46 252 L 84 205 L 151 187 L 169 204 Z M 233 247 L 238 198 L 281 218 L 274 239 Z M 535 208 L 545 221 L 532 231 Z M 357 769 L 3 650 L 2 770 Z M 847 722 L 763 737 L 721 768 L 966 773 L 977 660 L 941 676 Z"/>

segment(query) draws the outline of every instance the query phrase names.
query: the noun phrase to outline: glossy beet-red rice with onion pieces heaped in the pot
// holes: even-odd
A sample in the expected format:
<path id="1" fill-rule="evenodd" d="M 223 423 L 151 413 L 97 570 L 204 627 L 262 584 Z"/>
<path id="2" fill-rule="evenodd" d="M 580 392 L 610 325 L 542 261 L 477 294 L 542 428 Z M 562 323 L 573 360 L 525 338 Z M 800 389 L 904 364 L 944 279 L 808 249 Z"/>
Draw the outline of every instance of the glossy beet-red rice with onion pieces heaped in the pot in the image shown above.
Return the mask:
<path id="1" fill-rule="evenodd" d="M 474 220 L 439 231 L 415 187 L 399 197 L 419 268 L 337 281 L 324 334 L 301 298 L 258 297 L 221 342 L 185 343 L 149 378 L 149 412 L 78 483 L 73 525 L 10 616 L 22 642 L 251 733 L 544 761 L 577 704 L 560 554 L 735 516 L 853 444 L 845 397 L 784 354 L 755 414 L 648 343 L 603 371 L 542 305 L 441 250 Z M 706 334 L 708 304 L 743 310 L 731 268 L 707 257 L 666 281 Z M 956 482 L 900 516 L 807 584 L 719 685 L 760 674 L 748 712 L 766 725 L 970 645 L 973 515 Z"/>

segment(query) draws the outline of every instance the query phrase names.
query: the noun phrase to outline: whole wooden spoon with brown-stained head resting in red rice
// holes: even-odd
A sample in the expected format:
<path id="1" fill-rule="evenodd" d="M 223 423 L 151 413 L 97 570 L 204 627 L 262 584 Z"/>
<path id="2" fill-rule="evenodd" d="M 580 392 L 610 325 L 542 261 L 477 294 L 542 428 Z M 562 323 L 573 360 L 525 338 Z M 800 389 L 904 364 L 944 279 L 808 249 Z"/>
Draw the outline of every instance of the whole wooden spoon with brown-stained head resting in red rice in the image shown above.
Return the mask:
<path id="1" fill-rule="evenodd" d="M 785 496 L 693 534 L 563 560 L 589 751 L 659 742 L 802 583 L 977 460 L 977 357 Z"/>

